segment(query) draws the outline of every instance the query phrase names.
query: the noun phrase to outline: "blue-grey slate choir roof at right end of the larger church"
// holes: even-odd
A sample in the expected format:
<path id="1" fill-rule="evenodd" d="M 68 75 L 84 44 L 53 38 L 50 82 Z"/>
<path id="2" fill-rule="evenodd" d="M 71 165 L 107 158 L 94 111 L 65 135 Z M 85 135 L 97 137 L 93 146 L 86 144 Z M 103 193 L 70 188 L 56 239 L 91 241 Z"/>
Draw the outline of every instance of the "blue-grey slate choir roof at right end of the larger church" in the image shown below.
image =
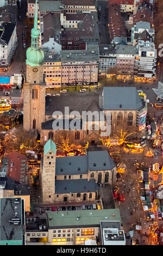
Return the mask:
<path id="1" fill-rule="evenodd" d="M 136 87 L 104 87 L 104 110 L 138 110 L 143 107 L 143 101 Z"/>

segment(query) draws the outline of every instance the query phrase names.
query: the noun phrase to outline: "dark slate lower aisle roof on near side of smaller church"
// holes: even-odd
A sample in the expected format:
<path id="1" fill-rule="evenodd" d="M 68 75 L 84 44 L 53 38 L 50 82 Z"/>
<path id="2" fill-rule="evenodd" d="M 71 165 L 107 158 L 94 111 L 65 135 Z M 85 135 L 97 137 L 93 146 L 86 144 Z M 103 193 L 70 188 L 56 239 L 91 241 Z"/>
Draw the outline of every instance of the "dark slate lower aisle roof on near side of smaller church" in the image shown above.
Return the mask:
<path id="1" fill-rule="evenodd" d="M 95 192 L 99 190 L 99 185 L 95 180 L 87 181 L 87 179 L 80 180 L 55 180 L 55 193 L 82 193 Z"/>

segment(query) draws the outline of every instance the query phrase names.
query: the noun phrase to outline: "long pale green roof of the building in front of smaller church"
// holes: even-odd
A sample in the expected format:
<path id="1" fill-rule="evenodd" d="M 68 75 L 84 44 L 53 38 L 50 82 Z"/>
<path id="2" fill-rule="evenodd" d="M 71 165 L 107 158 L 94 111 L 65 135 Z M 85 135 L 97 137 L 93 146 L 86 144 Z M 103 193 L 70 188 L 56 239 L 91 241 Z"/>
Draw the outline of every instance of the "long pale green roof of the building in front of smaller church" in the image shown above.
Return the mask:
<path id="1" fill-rule="evenodd" d="M 119 209 L 80 210 L 80 211 L 47 211 L 49 229 L 99 227 L 100 221 L 120 221 Z"/>

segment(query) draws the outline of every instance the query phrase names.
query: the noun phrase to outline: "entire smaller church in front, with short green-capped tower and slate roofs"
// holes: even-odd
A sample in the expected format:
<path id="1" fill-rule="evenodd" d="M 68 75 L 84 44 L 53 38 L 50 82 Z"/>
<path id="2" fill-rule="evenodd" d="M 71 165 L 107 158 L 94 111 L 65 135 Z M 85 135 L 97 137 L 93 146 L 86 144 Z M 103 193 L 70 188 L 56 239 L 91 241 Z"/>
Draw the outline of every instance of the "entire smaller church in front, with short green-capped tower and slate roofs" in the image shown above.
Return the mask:
<path id="1" fill-rule="evenodd" d="M 115 184 L 116 167 L 107 150 L 95 148 L 86 156 L 56 157 L 56 145 L 44 146 L 40 181 L 43 204 L 95 202 L 98 184 Z M 98 159 L 98 161 L 97 161 Z"/>

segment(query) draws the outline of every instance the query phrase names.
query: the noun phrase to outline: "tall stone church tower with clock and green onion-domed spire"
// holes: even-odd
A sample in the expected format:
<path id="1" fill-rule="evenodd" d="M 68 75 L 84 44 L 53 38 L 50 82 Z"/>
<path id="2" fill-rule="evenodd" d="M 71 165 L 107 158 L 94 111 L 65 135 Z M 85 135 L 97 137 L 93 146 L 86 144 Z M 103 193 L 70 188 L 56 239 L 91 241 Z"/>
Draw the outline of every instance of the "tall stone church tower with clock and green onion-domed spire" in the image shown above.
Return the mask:
<path id="1" fill-rule="evenodd" d="M 45 121 L 45 88 L 43 79 L 44 53 L 39 47 L 40 30 L 37 26 L 37 0 L 34 27 L 31 31 L 31 46 L 26 55 L 26 82 L 23 86 L 23 127 L 26 131 L 41 132 L 41 123 Z"/>

